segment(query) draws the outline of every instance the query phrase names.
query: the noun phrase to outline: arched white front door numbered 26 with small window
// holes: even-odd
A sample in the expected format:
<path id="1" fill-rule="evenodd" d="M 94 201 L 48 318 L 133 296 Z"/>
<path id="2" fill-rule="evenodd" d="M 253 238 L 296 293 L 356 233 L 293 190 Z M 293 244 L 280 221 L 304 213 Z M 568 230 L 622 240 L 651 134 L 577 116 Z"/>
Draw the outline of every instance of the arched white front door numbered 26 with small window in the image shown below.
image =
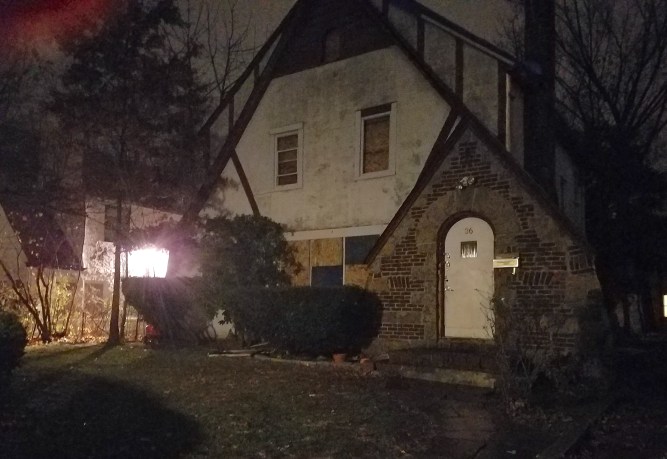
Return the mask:
<path id="1" fill-rule="evenodd" d="M 491 339 L 493 230 L 467 217 L 445 237 L 445 336 Z"/>

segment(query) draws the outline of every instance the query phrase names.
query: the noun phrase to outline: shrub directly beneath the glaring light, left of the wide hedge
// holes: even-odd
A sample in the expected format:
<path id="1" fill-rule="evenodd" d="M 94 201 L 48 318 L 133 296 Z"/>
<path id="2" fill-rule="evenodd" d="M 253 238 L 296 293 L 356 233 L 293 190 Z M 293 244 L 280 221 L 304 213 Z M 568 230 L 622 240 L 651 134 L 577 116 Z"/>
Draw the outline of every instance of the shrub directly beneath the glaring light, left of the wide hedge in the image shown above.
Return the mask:
<path id="1" fill-rule="evenodd" d="M 208 326 L 197 278 L 128 278 L 123 294 L 144 319 L 172 343 L 194 344 Z"/>

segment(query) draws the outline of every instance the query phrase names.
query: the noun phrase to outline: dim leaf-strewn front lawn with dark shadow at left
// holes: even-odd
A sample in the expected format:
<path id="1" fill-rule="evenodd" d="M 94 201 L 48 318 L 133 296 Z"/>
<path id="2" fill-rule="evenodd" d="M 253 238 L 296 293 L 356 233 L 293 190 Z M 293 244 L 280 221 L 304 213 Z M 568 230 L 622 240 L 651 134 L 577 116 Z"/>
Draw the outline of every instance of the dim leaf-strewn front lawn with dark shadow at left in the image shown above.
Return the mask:
<path id="1" fill-rule="evenodd" d="M 50 345 L 0 404 L 2 457 L 470 457 L 497 400 L 197 348 Z"/>

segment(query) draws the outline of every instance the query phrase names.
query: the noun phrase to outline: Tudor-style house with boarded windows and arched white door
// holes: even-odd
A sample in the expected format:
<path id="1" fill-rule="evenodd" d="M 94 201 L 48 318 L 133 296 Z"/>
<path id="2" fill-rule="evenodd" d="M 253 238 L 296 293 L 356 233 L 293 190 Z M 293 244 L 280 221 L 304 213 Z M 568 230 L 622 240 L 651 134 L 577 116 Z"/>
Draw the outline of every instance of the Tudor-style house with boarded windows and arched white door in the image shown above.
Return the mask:
<path id="1" fill-rule="evenodd" d="M 570 352 L 599 289 L 583 187 L 564 145 L 530 141 L 516 69 L 414 1 L 299 0 L 204 126 L 184 219 L 284 224 L 294 283 L 377 292 L 387 346 L 489 339 L 495 298 Z"/>

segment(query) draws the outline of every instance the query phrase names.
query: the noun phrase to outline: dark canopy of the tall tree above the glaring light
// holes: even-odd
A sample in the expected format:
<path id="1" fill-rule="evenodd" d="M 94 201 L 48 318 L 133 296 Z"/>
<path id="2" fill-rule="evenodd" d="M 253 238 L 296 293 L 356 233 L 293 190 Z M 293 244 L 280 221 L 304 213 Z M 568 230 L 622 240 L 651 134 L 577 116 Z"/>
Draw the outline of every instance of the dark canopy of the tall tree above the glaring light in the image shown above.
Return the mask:
<path id="1" fill-rule="evenodd" d="M 71 58 L 52 111 L 84 155 L 86 188 L 168 205 L 195 185 L 195 136 L 206 113 L 191 60 L 170 29 L 187 24 L 172 0 L 121 2 L 97 28 L 61 42 Z"/>

